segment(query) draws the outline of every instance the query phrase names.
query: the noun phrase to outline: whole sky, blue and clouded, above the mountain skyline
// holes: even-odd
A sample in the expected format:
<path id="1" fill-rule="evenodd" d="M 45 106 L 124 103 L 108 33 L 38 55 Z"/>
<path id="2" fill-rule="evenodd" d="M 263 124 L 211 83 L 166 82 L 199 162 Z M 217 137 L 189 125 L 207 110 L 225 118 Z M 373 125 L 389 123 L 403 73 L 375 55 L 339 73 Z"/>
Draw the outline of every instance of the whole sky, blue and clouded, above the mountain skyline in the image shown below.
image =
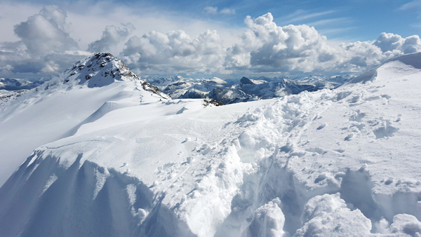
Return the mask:
<path id="1" fill-rule="evenodd" d="M 109 52 L 140 76 L 361 73 L 421 51 L 421 1 L 1 1 L 0 77 Z"/>

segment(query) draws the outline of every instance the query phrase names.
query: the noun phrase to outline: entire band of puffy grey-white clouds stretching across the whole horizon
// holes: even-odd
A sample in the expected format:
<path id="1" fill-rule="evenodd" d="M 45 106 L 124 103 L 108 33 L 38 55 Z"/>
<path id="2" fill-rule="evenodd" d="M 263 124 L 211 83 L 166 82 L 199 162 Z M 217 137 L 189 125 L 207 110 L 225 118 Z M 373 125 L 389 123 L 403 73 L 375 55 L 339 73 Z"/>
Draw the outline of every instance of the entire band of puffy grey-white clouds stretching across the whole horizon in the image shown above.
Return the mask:
<path id="1" fill-rule="evenodd" d="M 234 14 L 232 9 L 204 9 L 210 14 Z M 228 48 L 215 30 L 191 36 L 185 31 L 152 31 L 133 35 L 131 23 L 108 25 L 100 39 L 80 48 L 70 36 L 67 13 L 44 6 L 14 27 L 15 42 L 0 43 L 0 76 L 62 72 L 81 57 L 123 45 L 121 57 L 134 72 L 147 74 L 314 74 L 363 72 L 391 57 L 421 52 L 417 35 L 403 38 L 382 33 L 375 41 L 332 46 L 308 25 L 278 26 L 271 13 L 245 19 L 246 29 Z"/>

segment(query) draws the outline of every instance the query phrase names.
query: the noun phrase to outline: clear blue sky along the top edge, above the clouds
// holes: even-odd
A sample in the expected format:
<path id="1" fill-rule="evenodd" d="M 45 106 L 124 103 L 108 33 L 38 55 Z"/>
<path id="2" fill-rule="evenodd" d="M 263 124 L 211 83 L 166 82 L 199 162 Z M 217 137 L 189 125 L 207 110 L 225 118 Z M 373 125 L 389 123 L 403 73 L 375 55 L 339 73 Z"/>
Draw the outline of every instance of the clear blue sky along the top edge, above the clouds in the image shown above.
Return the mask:
<path id="1" fill-rule="evenodd" d="M 75 9 L 78 1 L 22 1 L 24 3 L 57 4 L 67 11 Z M 103 1 L 91 1 L 93 3 Z M 274 15 L 277 25 L 314 26 L 319 32 L 326 32 L 329 39 L 368 41 L 377 39 L 382 32 L 410 36 L 421 32 L 421 1 L 354 0 L 354 1 L 111 1 L 111 5 L 154 9 L 154 13 L 188 15 L 191 19 L 215 22 L 225 27 L 244 27 L 247 15 L 258 18 L 265 13 Z M 407 5 L 407 6 L 406 6 Z M 229 8 L 235 14 L 210 14 L 203 11 L 207 6 L 218 11 Z M 82 10 L 83 11 L 83 10 Z"/>

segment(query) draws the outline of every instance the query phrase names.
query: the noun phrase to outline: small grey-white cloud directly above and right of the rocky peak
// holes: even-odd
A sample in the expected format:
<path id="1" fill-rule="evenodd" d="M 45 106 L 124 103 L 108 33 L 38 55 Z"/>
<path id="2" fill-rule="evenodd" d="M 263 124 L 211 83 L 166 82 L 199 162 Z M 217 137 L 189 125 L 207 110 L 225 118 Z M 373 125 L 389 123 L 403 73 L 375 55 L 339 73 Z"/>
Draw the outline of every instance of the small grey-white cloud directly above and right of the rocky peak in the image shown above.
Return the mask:
<path id="1" fill-rule="evenodd" d="M 114 25 L 107 25 L 104 32 L 102 32 L 101 39 L 89 43 L 89 52 L 103 52 L 109 50 L 111 46 L 116 46 L 118 43 L 127 39 L 129 34 L 133 32 L 135 26 L 131 23 L 121 24 L 122 27 L 115 27 Z"/>

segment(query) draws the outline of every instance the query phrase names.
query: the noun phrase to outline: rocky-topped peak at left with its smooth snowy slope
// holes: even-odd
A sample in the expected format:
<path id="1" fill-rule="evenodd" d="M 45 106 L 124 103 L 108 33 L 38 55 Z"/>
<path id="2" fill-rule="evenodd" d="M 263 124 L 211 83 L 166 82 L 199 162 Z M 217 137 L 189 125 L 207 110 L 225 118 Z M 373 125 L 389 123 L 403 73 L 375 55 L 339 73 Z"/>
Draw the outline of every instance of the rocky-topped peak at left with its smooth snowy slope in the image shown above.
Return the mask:
<path id="1" fill-rule="evenodd" d="M 108 53 L 87 57 L 32 90 L 0 97 L 0 184 L 33 149 L 72 135 L 95 111 L 99 117 L 167 98 Z"/>

